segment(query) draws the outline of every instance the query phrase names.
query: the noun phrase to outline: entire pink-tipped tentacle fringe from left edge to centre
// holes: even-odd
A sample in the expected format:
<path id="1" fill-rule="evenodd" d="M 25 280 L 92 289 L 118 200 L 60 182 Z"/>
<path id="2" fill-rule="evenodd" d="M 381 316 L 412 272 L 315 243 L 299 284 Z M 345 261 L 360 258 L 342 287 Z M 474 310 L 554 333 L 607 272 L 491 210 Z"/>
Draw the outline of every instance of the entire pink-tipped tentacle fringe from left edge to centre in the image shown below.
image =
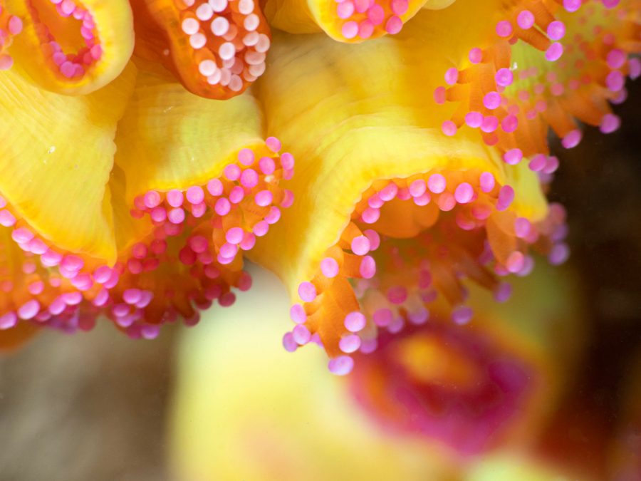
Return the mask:
<path id="1" fill-rule="evenodd" d="M 280 150 L 268 138 L 204 185 L 136 197 L 131 221 L 142 240 L 123 246 L 113 266 L 49 246 L 0 197 L 0 329 L 24 321 L 87 330 L 106 314 L 127 335 L 153 338 L 178 316 L 196 324 L 215 300 L 233 304 L 231 288 L 251 286 L 242 252 L 293 201 L 279 187 L 293 175 L 293 157 Z"/>

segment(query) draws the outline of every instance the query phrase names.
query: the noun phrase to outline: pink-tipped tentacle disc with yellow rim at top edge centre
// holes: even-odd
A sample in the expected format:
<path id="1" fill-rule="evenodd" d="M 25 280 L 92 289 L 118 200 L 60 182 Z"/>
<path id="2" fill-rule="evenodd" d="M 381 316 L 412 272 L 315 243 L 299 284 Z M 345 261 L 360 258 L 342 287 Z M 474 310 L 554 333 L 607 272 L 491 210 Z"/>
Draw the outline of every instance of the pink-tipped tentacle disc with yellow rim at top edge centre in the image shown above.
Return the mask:
<path id="1" fill-rule="evenodd" d="M 311 10 L 328 35 L 351 43 L 400 32 L 424 3 L 424 0 L 323 0 L 311 2 Z"/>

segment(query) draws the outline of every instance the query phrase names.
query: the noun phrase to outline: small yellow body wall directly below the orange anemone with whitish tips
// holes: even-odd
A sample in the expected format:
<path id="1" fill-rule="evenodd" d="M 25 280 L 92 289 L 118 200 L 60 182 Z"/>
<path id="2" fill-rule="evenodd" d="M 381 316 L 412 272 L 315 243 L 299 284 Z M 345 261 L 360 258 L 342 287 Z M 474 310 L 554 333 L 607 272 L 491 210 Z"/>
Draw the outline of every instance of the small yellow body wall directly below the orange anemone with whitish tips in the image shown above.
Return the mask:
<path id="1" fill-rule="evenodd" d="M 209 100 L 137 62 L 142 68 L 118 125 L 115 156 L 127 177 L 127 202 L 148 190 L 206 184 L 236 162 L 242 148 L 264 149 L 262 114 L 251 93 Z"/>

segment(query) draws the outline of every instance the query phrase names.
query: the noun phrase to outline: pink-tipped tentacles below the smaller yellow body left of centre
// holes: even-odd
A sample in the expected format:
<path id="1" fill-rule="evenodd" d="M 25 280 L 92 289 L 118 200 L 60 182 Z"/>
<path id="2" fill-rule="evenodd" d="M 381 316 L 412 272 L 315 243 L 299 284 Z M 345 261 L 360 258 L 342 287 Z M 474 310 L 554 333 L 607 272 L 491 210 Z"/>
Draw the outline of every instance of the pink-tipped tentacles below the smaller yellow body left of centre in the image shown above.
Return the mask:
<path id="1" fill-rule="evenodd" d="M 262 146 L 239 150 L 220 177 L 135 197 L 130 213 L 151 232 L 112 269 L 120 278 L 110 292 L 116 324 L 132 336 L 154 336 L 163 322 L 181 316 L 197 324 L 199 311 L 214 301 L 234 304 L 232 288 L 250 288 L 244 252 L 293 202 L 279 186 L 293 175 L 293 157 L 280 150 L 276 138 L 267 138 Z"/>

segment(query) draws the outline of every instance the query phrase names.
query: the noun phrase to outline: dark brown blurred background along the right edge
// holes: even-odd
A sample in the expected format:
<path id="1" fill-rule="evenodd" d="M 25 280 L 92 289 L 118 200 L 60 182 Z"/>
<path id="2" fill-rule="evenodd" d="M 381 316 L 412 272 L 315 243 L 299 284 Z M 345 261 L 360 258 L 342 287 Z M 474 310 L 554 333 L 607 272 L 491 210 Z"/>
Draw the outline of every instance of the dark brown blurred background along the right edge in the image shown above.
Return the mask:
<path id="1" fill-rule="evenodd" d="M 549 195 L 568 210 L 569 263 L 590 325 L 583 366 L 545 442 L 548 454 L 588 465 L 599 479 L 608 478 L 608 443 L 625 423 L 620 411 L 641 355 L 641 86 L 628 87 L 614 108 L 620 130 L 585 128 L 578 147 L 553 145 L 561 167 Z"/>

